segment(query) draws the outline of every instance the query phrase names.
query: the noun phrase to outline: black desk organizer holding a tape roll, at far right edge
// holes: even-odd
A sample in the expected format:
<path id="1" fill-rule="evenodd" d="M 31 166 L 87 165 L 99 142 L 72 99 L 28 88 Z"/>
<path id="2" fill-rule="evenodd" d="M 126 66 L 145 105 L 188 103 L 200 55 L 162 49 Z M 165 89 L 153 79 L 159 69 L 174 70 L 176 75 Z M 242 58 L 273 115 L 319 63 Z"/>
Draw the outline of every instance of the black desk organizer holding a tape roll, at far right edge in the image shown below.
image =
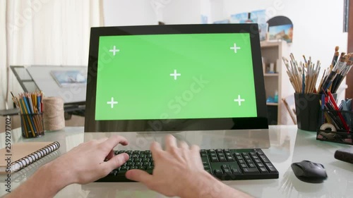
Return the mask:
<path id="1" fill-rule="evenodd" d="M 321 111 L 316 140 L 353 145 L 353 112 Z"/>

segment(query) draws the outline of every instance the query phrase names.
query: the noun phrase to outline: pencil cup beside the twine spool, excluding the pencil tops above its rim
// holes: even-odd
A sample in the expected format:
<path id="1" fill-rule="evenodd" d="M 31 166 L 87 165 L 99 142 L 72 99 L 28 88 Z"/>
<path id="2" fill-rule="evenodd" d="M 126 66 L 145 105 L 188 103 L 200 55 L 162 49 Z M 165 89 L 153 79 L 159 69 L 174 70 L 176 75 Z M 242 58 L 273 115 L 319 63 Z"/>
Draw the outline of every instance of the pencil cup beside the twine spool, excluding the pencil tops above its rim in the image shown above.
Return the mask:
<path id="1" fill-rule="evenodd" d="M 32 138 L 44 135 L 42 113 L 23 114 L 20 113 L 22 137 Z"/>

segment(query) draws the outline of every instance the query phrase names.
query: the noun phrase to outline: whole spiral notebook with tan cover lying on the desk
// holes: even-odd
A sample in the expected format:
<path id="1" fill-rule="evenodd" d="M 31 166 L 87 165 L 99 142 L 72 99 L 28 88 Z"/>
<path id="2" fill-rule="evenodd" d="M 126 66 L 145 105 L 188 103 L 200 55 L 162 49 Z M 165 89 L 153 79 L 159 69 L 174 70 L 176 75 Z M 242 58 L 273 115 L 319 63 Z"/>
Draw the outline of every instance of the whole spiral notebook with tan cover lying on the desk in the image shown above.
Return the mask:
<path id="1" fill-rule="evenodd" d="M 59 142 L 22 142 L 0 149 L 0 173 L 20 171 L 59 149 Z"/>

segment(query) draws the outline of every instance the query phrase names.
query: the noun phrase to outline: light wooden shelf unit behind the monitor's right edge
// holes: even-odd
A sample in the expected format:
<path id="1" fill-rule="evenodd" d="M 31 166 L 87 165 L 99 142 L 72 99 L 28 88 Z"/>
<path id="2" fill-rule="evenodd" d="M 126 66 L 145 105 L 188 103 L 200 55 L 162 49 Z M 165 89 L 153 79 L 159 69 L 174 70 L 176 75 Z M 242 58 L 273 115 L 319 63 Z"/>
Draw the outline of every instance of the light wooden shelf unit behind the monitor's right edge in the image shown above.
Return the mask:
<path id="1" fill-rule="evenodd" d="M 275 41 L 261 42 L 261 55 L 263 57 L 263 78 L 265 81 L 265 94 L 268 97 L 275 97 L 275 92 L 278 93 L 277 102 L 267 102 L 268 107 L 268 123 L 270 125 L 288 124 L 288 113 L 285 105 L 282 103 L 282 98 L 293 93 L 290 87 L 289 78 L 286 73 L 286 68 L 282 62 L 282 56 L 289 57 L 287 52 L 287 42 Z M 272 67 L 271 67 L 272 63 Z"/>

